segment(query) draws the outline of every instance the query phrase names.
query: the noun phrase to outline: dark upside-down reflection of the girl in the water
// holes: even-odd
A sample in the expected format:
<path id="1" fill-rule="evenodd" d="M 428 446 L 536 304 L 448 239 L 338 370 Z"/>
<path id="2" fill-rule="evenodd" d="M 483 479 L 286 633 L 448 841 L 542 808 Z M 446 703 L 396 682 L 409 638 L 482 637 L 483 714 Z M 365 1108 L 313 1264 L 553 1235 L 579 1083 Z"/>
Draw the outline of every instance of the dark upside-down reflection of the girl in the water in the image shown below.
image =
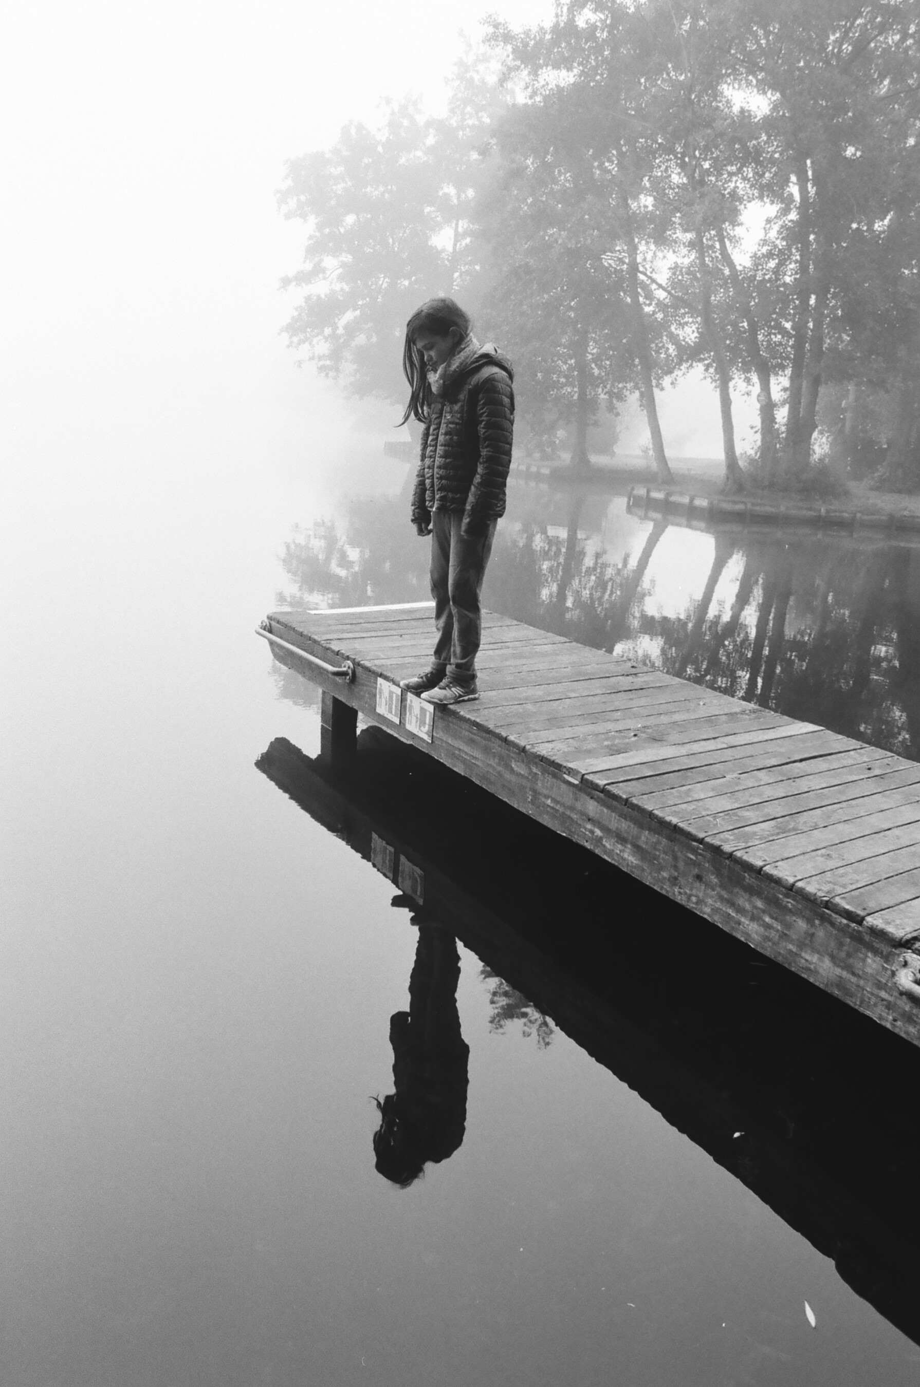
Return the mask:
<path id="1" fill-rule="evenodd" d="M 409 1010 L 390 1019 L 395 1093 L 377 1099 L 376 1168 L 402 1189 L 426 1161 L 444 1161 L 463 1140 L 469 1046 L 457 1010 L 457 940 L 438 925 L 419 925 L 409 978 Z"/>

